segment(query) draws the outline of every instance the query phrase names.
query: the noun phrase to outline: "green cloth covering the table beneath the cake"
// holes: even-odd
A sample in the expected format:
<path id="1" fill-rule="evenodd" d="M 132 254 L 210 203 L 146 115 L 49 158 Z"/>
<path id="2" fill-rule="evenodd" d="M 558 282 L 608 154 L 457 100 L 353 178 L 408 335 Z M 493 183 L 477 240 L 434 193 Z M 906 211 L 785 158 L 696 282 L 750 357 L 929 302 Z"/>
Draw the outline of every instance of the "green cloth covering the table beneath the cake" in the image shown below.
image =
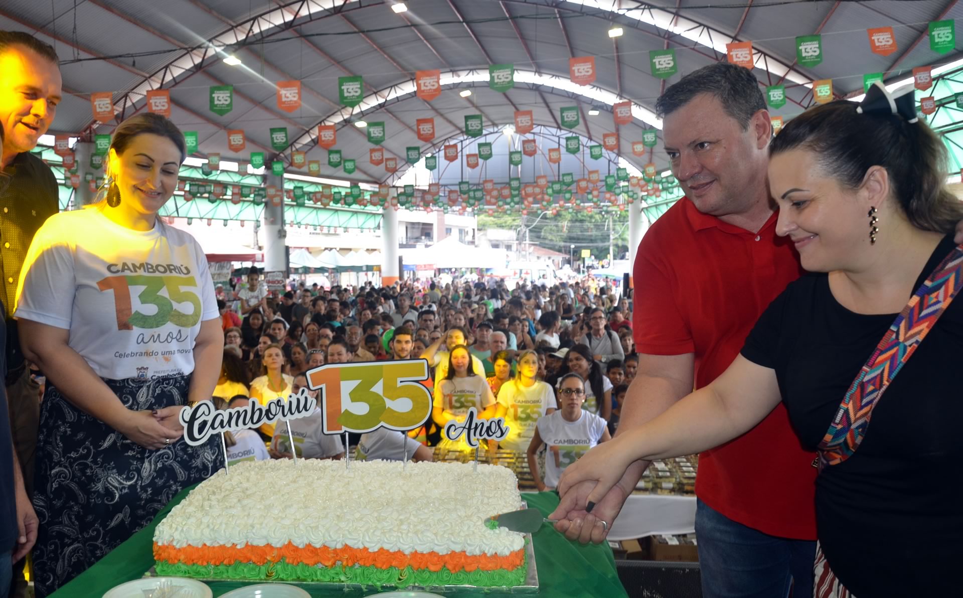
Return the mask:
<path id="1" fill-rule="evenodd" d="M 170 512 L 170 509 L 184 500 L 191 488 L 186 488 L 170 501 L 167 507 L 146 528 L 135 533 L 90 569 L 83 572 L 50 598 L 101 598 L 105 592 L 116 585 L 143 577 L 143 573 L 154 564 L 153 537 L 157 523 Z M 522 494 L 529 507 L 535 507 L 548 515 L 559 505 L 559 497 L 554 492 Z M 615 560 L 607 544 L 582 546 L 569 542 L 551 526 L 544 525 L 533 534 L 535 547 L 535 566 L 538 571 L 538 594 L 541 596 L 584 598 L 585 596 L 606 596 L 619 598 L 627 596 L 615 572 Z M 212 582 L 208 585 L 215 596 L 221 596 L 232 589 L 249 583 Z M 387 590 L 386 590 L 387 591 Z M 338 596 L 353 598 L 371 595 L 372 591 L 345 592 L 333 590 L 318 592 L 311 590 L 315 597 Z M 454 595 L 454 594 L 453 594 Z M 477 596 L 477 593 L 464 594 Z M 486 593 L 486 596 L 514 596 L 518 594 Z"/>

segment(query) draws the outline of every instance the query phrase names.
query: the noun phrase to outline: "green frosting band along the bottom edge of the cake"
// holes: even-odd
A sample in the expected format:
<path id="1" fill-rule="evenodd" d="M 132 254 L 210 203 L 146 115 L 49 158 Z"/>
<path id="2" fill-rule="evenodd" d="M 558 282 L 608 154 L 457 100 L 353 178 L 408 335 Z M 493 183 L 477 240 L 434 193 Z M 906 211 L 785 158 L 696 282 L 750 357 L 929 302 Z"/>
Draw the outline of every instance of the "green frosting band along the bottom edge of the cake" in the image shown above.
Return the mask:
<path id="1" fill-rule="evenodd" d="M 257 565 L 250 562 L 236 562 L 231 565 L 193 565 L 184 563 L 169 563 L 166 560 L 156 561 L 157 574 L 160 576 L 172 575 L 175 577 L 193 577 L 204 580 L 251 580 L 263 581 L 267 579 L 283 582 L 325 582 L 334 584 L 363 584 L 374 585 L 378 589 L 381 586 L 407 587 L 408 585 L 419 585 L 422 587 L 432 587 L 439 585 L 478 585 L 485 587 L 510 587 L 512 585 L 523 585 L 525 574 L 528 570 L 528 557 L 522 566 L 514 571 L 499 569 L 497 571 L 481 571 L 476 569 L 472 572 L 458 571 L 452 573 L 447 568 L 442 567 L 440 571 L 429 571 L 420 569 L 415 571 L 411 567 L 399 569 L 389 567 L 379 569 L 377 567 L 365 567 L 354 565 L 346 567 L 339 565 L 336 567 L 325 567 L 322 565 L 309 565 L 303 562 L 290 564 L 281 559 L 275 563 Z M 273 570 L 273 576 L 268 577 L 269 571 Z"/>

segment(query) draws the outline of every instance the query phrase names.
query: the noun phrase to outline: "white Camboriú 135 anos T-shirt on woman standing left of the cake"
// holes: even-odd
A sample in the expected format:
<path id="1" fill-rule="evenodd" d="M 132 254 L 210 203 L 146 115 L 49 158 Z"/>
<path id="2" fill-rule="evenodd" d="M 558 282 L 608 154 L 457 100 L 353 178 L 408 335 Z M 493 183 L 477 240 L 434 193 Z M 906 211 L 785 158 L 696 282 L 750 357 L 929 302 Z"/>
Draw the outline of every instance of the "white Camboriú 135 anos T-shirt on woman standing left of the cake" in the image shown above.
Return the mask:
<path id="1" fill-rule="evenodd" d="M 138 231 L 100 210 L 44 222 L 27 251 L 13 315 L 69 330 L 67 344 L 99 377 L 192 373 L 200 323 L 220 318 L 203 249 L 160 218 Z"/>

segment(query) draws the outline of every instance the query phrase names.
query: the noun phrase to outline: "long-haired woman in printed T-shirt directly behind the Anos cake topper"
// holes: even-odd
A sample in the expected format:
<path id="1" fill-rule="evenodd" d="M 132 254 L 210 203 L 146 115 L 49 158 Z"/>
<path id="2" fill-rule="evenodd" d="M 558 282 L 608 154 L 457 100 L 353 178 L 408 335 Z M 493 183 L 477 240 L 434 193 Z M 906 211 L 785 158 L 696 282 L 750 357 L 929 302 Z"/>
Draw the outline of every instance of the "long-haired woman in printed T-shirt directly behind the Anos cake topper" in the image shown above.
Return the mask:
<path id="1" fill-rule="evenodd" d="M 481 416 L 481 412 L 492 403 L 495 403 L 495 397 L 491 394 L 491 388 L 483 372 L 481 374 L 475 372 L 468 348 L 464 345 L 453 348 L 448 354 L 448 369 L 445 377 L 434 385 L 431 416 L 435 423 L 444 429 L 445 424 L 451 420 L 465 421 L 468 410 L 472 407 L 475 407 L 476 412 Z M 443 435 L 438 446 L 452 451 L 473 450 L 465 442 L 464 436 L 453 442 L 444 438 Z"/>

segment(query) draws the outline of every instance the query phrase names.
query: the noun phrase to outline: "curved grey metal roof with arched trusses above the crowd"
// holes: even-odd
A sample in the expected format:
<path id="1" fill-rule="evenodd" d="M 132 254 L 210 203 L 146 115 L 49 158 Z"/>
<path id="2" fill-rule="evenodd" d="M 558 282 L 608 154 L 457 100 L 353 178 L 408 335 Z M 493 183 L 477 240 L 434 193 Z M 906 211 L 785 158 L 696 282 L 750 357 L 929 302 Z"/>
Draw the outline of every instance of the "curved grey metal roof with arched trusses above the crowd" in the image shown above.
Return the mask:
<path id="1" fill-rule="evenodd" d="M 867 72 L 883 72 L 893 81 L 905 78 L 914 66 L 958 60 L 955 52 L 929 50 L 927 22 L 963 14 L 956 0 L 723 0 L 712 8 L 703 0 L 411 0 L 403 13 L 392 11 L 392 4 L 6 0 L 0 28 L 35 32 L 58 50 L 67 96 L 51 132 L 109 132 L 114 123 L 102 125 L 91 117 L 91 92 L 113 91 L 119 120 L 144 109 L 146 91 L 162 88 L 170 91 L 174 122 L 198 132 L 201 157 L 218 152 L 223 161 L 247 160 L 247 152 L 264 151 L 270 162 L 275 153 L 270 129 L 284 126 L 292 144 L 278 159 L 290 164 L 290 149 L 303 150 L 308 160 L 322 162 L 322 176 L 345 179 L 340 169 L 326 166 L 325 150 L 316 145 L 318 124 L 329 123 L 338 127 L 337 148 L 357 161 L 353 180 L 377 183 L 403 176 L 407 146 L 418 145 L 424 155 L 444 139 L 461 143 L 465 115 L 481 114 L 485 127 L 501 129 L 516 110 L 532 110 L 544 133 L 559 131 L 559 109 L 572 105 L 581 109 L 574 132 L 583 144 L 601 143 L 604 133 L 617 131 L 622 159 L 637 169 L 650 160 L 666 169 L 661 152 L 636 157 L 631 143 L 640 140 L 642 130 L 659 128 L 652 110 L 665 85 L 725 60 L 727 42 L 753 41 L 760 85 L 786 85 L 788 102 L 773 113 L 792 117 L 811 103 L 807 84 L 814 79 L 833 79 L 836 94 L 846 96 L 862 92 Z M 622 37 L 608 37 L 613 25 L 623 28 Z M 865 30 L 876 26 L 894 27 L 898 53 L 881 57 L 870 52 Z M 814 68 L 795 65 L 794 37 L 816 33 L 823 36 L 825 60 Z M 679 65 L 667 80 L 652 76 L 648 59 L 650 50 L 666 47 L 676 49 Z M 228 54 L 243 65 L 224 64 Z M 568 59 L 573 56 L 596 57 L 593 86 L 569 82 Z M 515 65 L 514 89 L 488 89 L 491 64 Z M 435 68 L 447 83 L 439 97 L 426 102 L 413 92 L 414 72 Z M 345 75 L 364 76 L 366 102 L 353 110 L 339 105 L 337 78 Z M 301 82 L 302 105 L 288 114 L 276 108 L 274 84 L 292 79 Z M 219 85 L 234 86 L 233 109 L 224 116 L 208 109 L 208 90 Z M 467 98 L 458 93 L 464 89 L 472 91 Z M 632 124 L 613 123 L 611 104 L 619 99 L 634 103 Z M 589 117 L 592 107 L 601 114 Z M 433 142 L 417 140 L 417 117 L 434 118 Z M 360 118 L 385 122 L 382 146 L 386 156 L 399 159 L 399 172 L 389 175 L 369 164 L 373 145 L 351 124 Z M 228 148 L 228 129 L 245 130 L 242 155 Z M 568 132 L 558 136 L 564 134 Z M 508 161 L 503 157 L 497 163 L 504 175 L 493 161 L 494 172 L 487 177 L 504 180 Z"/>

